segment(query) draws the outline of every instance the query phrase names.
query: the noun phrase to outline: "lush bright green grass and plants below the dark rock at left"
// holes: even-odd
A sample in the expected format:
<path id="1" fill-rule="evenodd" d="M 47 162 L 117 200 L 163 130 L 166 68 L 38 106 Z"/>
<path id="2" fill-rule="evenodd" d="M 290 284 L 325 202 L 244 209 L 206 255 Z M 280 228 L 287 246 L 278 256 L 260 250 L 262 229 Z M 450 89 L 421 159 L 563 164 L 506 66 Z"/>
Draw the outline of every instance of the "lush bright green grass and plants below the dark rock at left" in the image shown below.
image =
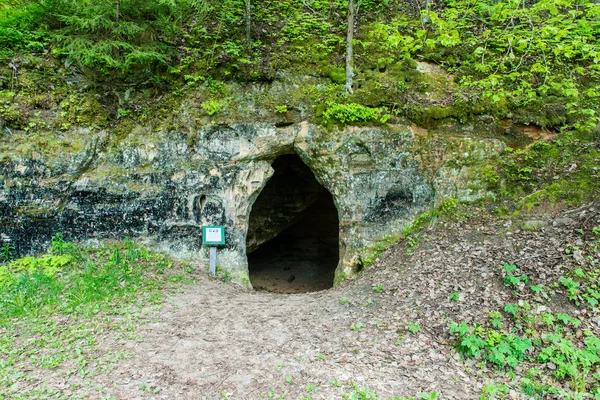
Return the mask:
<path id="1" fill-rule="evenodd" d="M 14 316 L 98 312 L 152 285 L 141 268 L 155 271 L 171 265 L 133 242 L 102 248 L 83 256 L 81 249 L 57 235 L 49 254 L 23 257 L 0 266 L 0 325 Z"/>

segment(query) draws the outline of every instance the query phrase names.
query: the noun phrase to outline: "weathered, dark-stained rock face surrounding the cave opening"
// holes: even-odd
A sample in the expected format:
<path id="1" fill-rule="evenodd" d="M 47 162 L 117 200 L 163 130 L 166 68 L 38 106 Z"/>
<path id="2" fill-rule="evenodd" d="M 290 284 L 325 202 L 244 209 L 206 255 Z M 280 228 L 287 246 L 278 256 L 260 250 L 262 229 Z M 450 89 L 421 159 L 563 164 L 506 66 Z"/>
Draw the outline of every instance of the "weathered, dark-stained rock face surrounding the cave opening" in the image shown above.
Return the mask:
<path id="1" fill-rule="evenodd" d="M 333 197 L 339 281 L 439 199 L 485 196 L 478 165 L 503 148 L 495 139 L 436 139 L 409 126 L 327 131 L 308 123 L 211 125 L 188 133 L 138 126 L 119 140 L 82 131 L 61 140 L 79 145 L 65 144 L 69 150 L 55 155 L 41 148 L 0 154 L 0 240 L 27 253 L 56 232 L 74 240 L 129 236 L 206 260 L 202 226 L 224 225 L 219 264 L 246 286 L 246 243 L 253 250 L 276 236 L 318 191 L 290 188 L 294 202 L 283 196 L 281 207 L 253 217 L 247 241 L 250 211 L 279 156 L 298 155 Z"/>

